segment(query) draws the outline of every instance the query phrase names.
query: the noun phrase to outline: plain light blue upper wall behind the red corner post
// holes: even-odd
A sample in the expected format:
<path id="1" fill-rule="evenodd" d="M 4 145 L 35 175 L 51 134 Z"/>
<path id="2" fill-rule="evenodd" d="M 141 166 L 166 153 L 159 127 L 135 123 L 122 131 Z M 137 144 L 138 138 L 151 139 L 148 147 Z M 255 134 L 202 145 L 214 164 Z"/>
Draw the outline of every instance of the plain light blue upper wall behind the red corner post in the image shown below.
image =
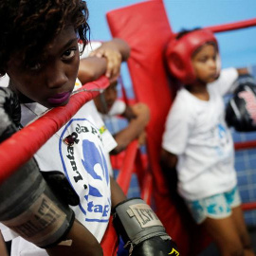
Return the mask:
<path id="1" fill-rule="evenodd" d="M 105 13 L 141 0 L 87 0 L 92 40 L 109 40 L 111 34 Z M 255 0 L 164 0 L 174 31 L 181 28 L 206 27 L 256 18 Z M 154 18 L 154 17 L 153 17 Z M 256 27 L 216 34 L 222 65 L 256 64 Z"/>

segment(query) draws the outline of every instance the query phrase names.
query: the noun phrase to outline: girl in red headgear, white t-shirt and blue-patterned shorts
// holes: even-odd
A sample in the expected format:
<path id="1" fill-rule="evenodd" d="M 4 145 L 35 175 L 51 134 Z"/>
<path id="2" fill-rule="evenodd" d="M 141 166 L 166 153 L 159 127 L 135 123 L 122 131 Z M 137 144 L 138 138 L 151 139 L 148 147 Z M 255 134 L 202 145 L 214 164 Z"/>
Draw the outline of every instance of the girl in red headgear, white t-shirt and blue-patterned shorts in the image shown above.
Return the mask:
<path id="1" fill-rule="evenodd" d="M 220 72 L 218 44 L 207 29 L 180 33 L 167 47 L 167 62 L 184 86 L 166 120 L 162 161 L 176 167 L 179 194 L 221 254 L 254 255 L 241 210 L 223 101 L 247 69 Z"/>

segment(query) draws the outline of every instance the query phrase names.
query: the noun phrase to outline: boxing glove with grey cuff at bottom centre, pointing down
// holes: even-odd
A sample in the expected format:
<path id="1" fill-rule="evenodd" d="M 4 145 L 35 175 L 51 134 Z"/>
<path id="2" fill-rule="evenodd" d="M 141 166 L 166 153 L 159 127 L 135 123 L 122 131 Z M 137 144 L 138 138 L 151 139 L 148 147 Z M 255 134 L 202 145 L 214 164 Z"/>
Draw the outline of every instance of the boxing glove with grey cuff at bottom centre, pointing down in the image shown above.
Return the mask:
<path id="1" fill-rule="evenodd" d="M 141 198 L 131 198 L 114 209 L 113 222 L 121 235 L 129 255 L 179 255 L 172 238 L 162 223 Z"/>

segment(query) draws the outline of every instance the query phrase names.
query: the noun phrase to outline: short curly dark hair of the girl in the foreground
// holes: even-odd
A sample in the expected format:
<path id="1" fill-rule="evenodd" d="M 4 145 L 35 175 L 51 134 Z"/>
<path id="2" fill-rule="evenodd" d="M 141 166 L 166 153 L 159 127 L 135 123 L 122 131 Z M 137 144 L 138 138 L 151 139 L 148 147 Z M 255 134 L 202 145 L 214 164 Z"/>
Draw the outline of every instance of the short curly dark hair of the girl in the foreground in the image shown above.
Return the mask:
<path id="1" fill-rule="evenodd" d="M 14 53 L 27 66 L 43 58 L 46 46 L 67 25 L 75 27 L 84 48 L 88 15 L 83 0 L 1 0 L 0 76 Z"/>

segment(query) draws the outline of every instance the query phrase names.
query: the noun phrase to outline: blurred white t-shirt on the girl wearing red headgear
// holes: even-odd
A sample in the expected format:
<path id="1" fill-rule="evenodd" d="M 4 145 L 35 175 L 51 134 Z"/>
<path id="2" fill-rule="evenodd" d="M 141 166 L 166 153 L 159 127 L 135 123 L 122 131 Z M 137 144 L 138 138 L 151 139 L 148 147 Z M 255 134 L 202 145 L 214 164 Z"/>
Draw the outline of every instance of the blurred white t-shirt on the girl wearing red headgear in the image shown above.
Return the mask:
<path id="1" fill-rule="evenodd" d="M 182 88 L 168 114 L 162 147 L 178 156 L 178 192 L 188 200 L 227 192 L 237 183 L 222 98 L 237 78 L 235 68 L 223 70 L 208 84 L 210 101 Z"/>

